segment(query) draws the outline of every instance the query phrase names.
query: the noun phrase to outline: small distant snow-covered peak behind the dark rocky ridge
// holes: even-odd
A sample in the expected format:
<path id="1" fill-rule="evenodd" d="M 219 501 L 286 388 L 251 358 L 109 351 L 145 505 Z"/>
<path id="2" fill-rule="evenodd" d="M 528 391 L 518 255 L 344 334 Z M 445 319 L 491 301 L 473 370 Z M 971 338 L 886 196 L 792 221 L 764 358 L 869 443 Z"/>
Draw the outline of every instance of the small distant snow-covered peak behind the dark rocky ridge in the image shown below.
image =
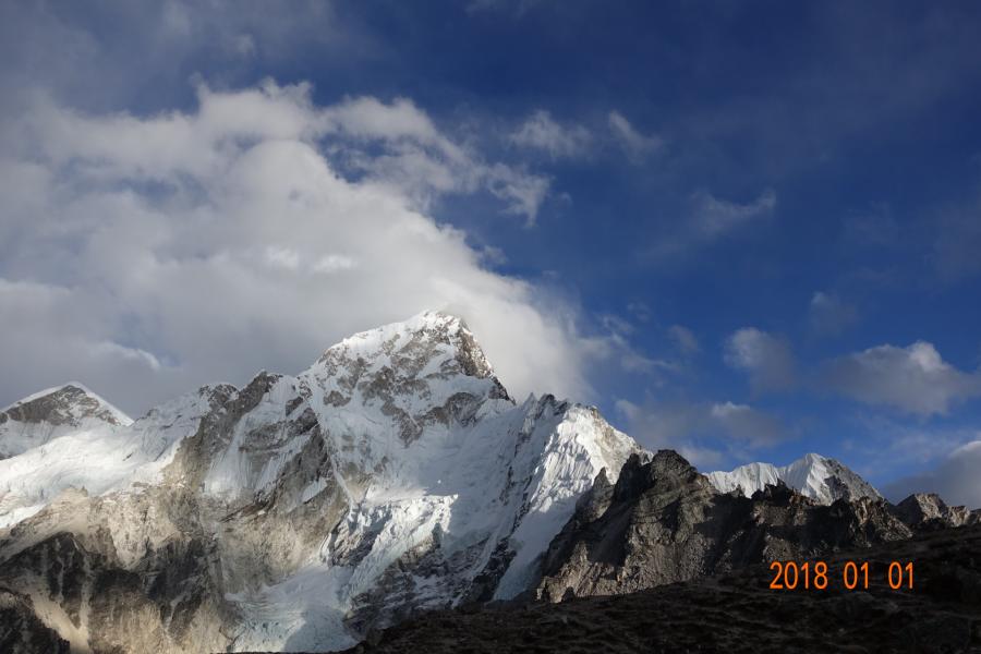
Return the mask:
<path id="1" fill-rule="evenodd" d="M 835 459 L 813 452 L 779 468 L 772 463 L 747 463 L 730 472 L 710 472 L 707 477 L 723 493 L 739 488 L 747 497 L 778 481 L 821 504 L 841 498 L 882 497 L 856 472 Z"/>

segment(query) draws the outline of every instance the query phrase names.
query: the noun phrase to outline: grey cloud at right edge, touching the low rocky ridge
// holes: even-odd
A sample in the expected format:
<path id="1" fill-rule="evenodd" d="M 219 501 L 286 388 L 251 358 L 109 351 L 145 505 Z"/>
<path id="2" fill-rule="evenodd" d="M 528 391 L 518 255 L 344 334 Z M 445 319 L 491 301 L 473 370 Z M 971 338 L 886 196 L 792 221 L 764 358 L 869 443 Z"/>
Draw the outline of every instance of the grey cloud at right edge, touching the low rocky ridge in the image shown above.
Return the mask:
<path id="1" fill-rule="evenodd" d="M 981 508 L 981 439 L 956 448 L 935 469 L 885 487 L 893 501 L 912 493 L 937 493 L 947 504 Z"/>

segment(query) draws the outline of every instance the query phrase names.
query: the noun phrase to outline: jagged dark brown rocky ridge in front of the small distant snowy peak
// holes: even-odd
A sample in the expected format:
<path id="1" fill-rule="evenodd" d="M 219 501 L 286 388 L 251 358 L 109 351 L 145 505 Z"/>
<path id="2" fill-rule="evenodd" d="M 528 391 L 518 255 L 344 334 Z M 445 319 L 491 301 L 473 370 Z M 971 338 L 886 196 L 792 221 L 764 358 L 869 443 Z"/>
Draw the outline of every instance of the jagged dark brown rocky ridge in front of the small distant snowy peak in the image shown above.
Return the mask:
<path id="1" fill-rule="evenodd" d="M 538 595 L 630 593 L 777 559 L 907 538 L 883 500 L 823 506 L 780 484 L 752 498 L 718 493 L 674 451 L 631 457 L 610 487 L 605 475 L 543 561 Z"/>

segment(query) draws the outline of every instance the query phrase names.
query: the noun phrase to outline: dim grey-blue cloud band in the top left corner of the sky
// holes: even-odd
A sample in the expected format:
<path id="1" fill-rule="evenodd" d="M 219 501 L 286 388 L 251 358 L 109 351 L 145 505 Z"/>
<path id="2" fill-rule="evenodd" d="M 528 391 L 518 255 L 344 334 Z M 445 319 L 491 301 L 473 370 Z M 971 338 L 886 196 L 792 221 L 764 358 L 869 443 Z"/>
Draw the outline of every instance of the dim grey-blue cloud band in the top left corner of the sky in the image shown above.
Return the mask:
<path id="1" fill-rule="evenodd" d="M 148 107 L 183 101 L 191 71 L 233 87 L 301 55 L 330 66 L 387 48 L 335 2 L 290 4 L 272 14 L 262 2 L 131 0 L 80 14 L 69 4 L 2 3 L 0 24 L 19 36 L 4 39 L 0 105 L 23 109 L 43 88 L 96 111 Z"/>

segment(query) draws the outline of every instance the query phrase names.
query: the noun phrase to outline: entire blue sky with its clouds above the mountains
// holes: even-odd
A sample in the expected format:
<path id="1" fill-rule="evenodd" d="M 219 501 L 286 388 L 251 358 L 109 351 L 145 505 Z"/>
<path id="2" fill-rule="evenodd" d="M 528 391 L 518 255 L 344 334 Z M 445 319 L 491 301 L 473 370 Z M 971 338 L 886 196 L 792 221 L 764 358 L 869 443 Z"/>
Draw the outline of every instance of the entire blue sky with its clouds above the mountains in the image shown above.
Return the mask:
<path id="1" fill-rule="evenodd" d="M 296 372 L 355 328 L 449 308 L 509 387 L 596 403 L 702 468 L 820 451 L 893 493 L 930 486 L 981 505 L 977 3 L 269 7 L 0 10 L 2 154 L 16 171 L 0 315 L 24 330 L 7 353 L 24 372 L 4 371 L 15 380 L 0 401 L 85 377 L 140 413 L 196 384 Z M 262 128 L 206 152 L 170 153 L 159 135 L 168 117 L 215 134 L 208 101 L 242 116 L 261 88 Z M 305 126 L 282 128 L 293 114 L 274 105 L 306 112 Z M 386 253 L 405 269 L 425 262 L 408 292 L 393 277 L 415 278 L 398 266 L 359 264 L 378 242 L 364 240 L 390 227 L 361 209 L 303 223 L 306 242 L 325 243 L 316 257 L 278 241 L 290 209 L 266 195 L 253 204 L 272 208 L 247 229 L 201 238 L 209 220 L 239 220 L 228 178 L 194 164 L 220 168 L 225 138 L 240 148 L 229 166 L 271 142 L 313 148 L 344 193 L 387 190 L 365 211 L 395 202 L 447 243 Z M 173 161 L 154 172 L 161 152 Z M 263 170 L 269 182 L 284 168 Z M 334 252 L 335 237 L 350 252 Z M 137 272 L 136 246 L 170 265 Z M 267 274 L 219 283 L 225 263 L 253 255 Z M 275 277 L 307 267 L 332 281 Z M 354 283 L 344 270 L 364 271 Z M 207 296 L 189 300 L 187 280 Z M 482 293 L 507 311 L 481 306 Z M 256 305 L 298 317 L 243 308 Z M 52 340 L 75 344 L 56 355 Z"/>

